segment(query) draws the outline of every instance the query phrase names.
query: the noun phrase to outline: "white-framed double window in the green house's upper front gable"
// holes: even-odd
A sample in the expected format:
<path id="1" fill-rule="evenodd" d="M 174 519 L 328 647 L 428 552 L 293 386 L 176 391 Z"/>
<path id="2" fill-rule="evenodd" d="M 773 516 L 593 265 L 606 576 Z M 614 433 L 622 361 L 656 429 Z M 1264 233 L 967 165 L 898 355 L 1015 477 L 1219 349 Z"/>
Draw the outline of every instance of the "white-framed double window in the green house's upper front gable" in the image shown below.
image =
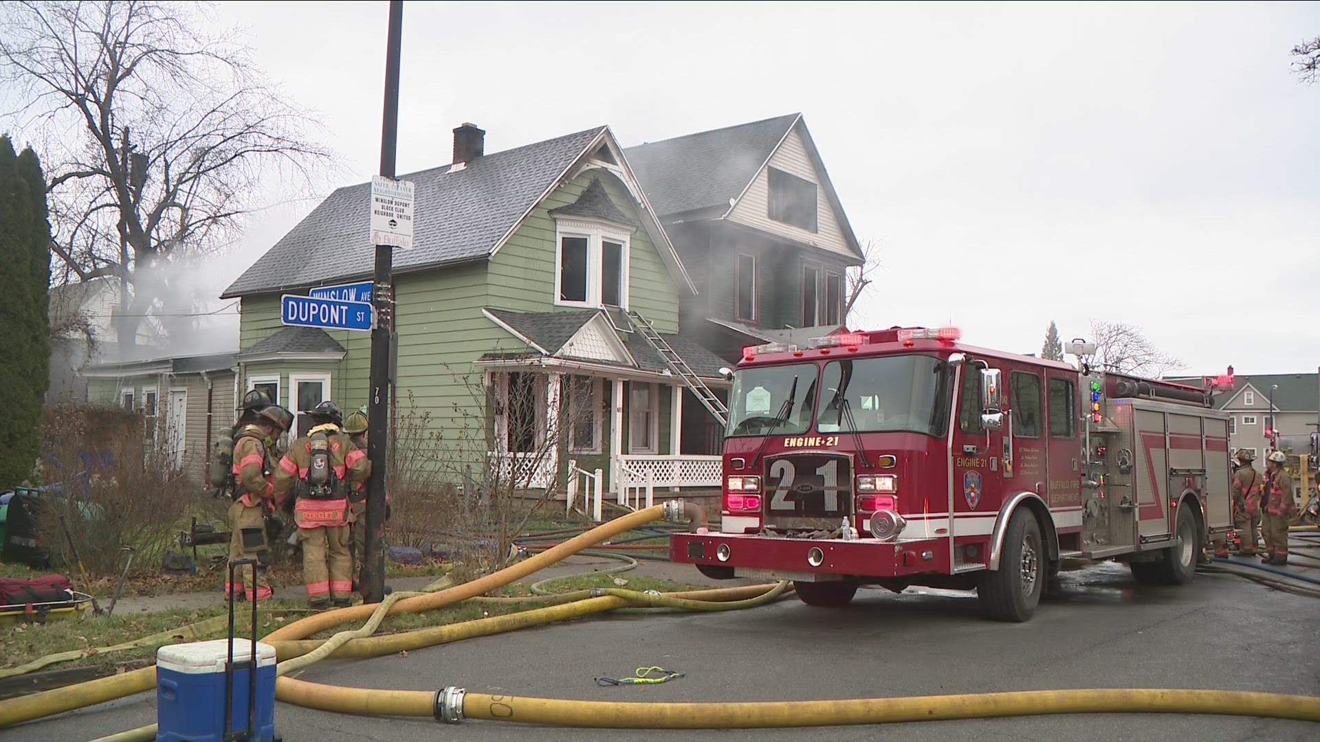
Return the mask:
<path id="1" fill-rule="evenodd" d="M 560 219 L 554 304 L 628 308 L 627 227 Z"/>

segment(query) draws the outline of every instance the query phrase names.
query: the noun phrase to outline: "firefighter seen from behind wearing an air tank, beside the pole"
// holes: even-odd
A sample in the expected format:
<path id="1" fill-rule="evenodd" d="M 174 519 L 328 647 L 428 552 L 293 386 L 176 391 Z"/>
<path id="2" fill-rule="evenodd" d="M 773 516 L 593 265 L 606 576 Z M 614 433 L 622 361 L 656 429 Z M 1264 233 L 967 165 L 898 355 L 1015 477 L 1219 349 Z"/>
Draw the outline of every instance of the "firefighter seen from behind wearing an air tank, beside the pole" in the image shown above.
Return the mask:
<path id="1" fill-rule="evenodd" d="M 302 413 L 312 419 L 312 428 L 280 459 L 275 492 L 282 500 L 294 490 L 293 522 L 312 607 L 347 606 L 352 593 L 348 492 L 367 479 L 367 454 L 341 429 L 343 417 L 335 403 L 322 401 Z"/>

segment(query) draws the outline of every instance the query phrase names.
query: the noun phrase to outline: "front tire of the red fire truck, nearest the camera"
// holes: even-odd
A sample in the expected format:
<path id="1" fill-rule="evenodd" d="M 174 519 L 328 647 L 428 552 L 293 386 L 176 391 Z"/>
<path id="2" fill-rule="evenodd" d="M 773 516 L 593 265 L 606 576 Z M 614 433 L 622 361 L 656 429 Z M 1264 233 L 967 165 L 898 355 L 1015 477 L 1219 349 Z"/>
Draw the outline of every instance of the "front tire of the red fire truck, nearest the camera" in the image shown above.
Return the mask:
<path id="1" fill-rule="evenodd" d="M 979 573 L 977 601 L 981 610 L 999 621 L 1020 623 L 1031 618 L 1045 588 L 1048 561 L 1036 516 L 1027 508 L 1018 508 L 1003 535 L 999 569 Z"/>

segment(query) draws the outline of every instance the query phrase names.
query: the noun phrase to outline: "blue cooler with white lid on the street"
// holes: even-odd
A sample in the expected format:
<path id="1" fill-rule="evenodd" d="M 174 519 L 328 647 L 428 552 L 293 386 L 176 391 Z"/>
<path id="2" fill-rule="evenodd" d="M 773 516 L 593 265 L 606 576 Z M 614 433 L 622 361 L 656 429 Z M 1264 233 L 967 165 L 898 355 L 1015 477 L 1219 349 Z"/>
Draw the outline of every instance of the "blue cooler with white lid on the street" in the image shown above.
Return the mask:
<path id="1" fill-rule="evenodd" d="M 234 639 L 234 661 L 251 659 L 252 644 Z M 256 644 L 256 729 L 251 737 L 272 742 L 275 737 L 275 647 Z M 224 663 L 228 639 L 172 644 L 156 651 L 156 742 L 223 742 Z M 248 726 L 251 672 L 234 671 L 230 730 Z"/>

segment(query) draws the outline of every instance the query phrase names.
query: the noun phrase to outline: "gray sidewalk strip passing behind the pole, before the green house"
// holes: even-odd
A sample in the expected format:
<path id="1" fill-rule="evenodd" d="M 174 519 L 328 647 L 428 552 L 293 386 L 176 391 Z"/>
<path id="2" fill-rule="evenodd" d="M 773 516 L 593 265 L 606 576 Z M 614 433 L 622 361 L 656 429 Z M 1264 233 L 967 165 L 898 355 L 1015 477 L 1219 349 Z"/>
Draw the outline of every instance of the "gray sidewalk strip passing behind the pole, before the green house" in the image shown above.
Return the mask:
<path id="1" fill-rule="evenodd" d="M 612 566 L 622 565 L 619 560 L 597 557 L 597 556 L 572 556 L 566 560 L 548 566 L 540 572 L 529 574 L 519 582 L 524 585 L 531 585 L 549 577 L 558 577 L 564 574 L 576 574 L 579 572 L 591 570 L 605 570 Z M 697 568 L 688 564 L 673 564 L 668 561 L 656 560 L 638 560 L 636 569 L 624 572 L 619 574 L 624 580 L 631 576 L 645 576 L 657 580 L 669 580 L 673 582 L 686 582 L 689 585 L 709 585 L 709 586 L 722 586 L 729 588 L 734 585 L 751 585 L 756 580 L 710 580 L 709 577 L 697 572 Z M 420 590 L 426 585 L 430 585 L 438 580 L 436 576 L 418 576 L 418 577 L 393 577 L 387 578 L 385 585 L 397 591 L 404 590 Z M 306 601 L 308 593 L 302 585 L 286 585 L 277 586 L 275 589 L 275 597 L 285 601 Z M 98 595 L 99 598 L 99 595 Z M 127 595 L 119 598 L 119 603 L 115 607 L 116 615 L 129 615 L 137 613 L 154 613 L 169 609 L 195 609 L 206 606 L 216 606 L 224 603 L 224 593 L 214 590 L 210 593 L 173 593 L 166 595 Z"/>

